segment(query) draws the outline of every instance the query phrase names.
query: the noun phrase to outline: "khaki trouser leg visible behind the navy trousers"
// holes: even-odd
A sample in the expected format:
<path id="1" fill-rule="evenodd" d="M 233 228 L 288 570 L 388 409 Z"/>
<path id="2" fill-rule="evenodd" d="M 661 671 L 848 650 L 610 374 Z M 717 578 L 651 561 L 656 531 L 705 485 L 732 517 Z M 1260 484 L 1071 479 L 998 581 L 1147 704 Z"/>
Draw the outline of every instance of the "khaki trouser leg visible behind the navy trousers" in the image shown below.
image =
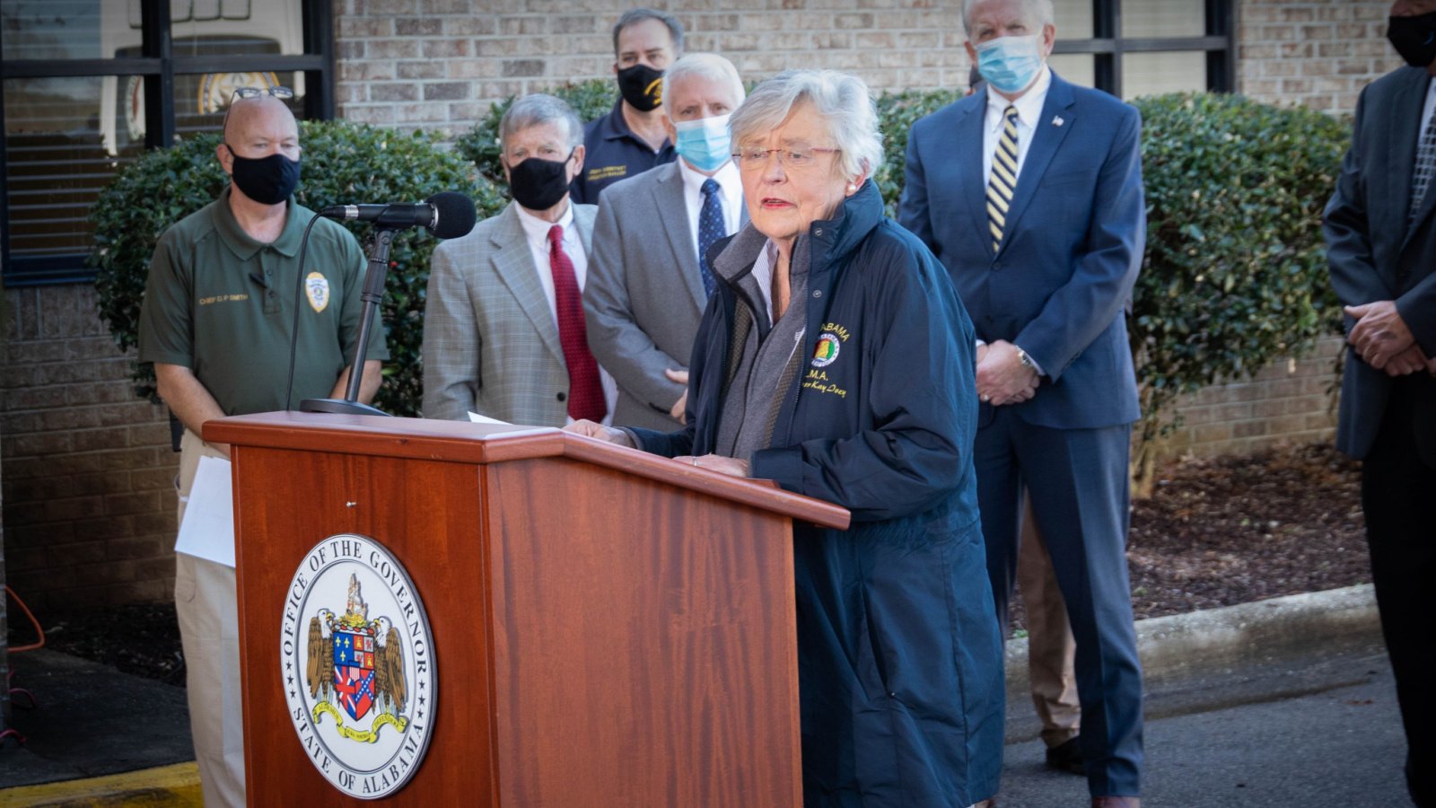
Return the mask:
<path id="1" fill-rule="evenodd" d="M 1074 738 L 1081 725 L 1074 658 L 1077 641 L 1067 621 L 1067 605 L 1057 588 L 1053 558 L 1032 518 L 1032 502 L 1022 513 L 1022 543 L 1017 555 L 1017 582 L 1027 608 L 1027 676 L 1032 706 L 1043 719 L 1048 748 Z"/>

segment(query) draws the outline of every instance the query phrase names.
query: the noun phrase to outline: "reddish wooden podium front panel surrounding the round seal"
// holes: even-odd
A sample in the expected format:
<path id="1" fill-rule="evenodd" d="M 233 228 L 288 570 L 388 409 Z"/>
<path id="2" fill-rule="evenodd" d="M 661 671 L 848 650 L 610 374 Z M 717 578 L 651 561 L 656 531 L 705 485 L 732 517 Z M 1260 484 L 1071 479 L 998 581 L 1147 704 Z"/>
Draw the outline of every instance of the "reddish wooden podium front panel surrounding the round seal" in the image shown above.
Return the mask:
<path id="1" fill-rule="evenodd" d="M 336 533 L 370 536 L 408 569 L 428 611 L 438 710 L 414 779 L 378 802 L 497 805 L 493 778 L 480 466 L 322 451 L 238 447 L 234 460 L 238 597 L 251 805 L 352 805 L 306 758 L 286 712 L 280 625 L 290 577 Z M 342 604 L 340 604 L 342 608 Z M 307 620 L 307 615 L 304 617 Z M 426 702 L 432 700 L 425 697 Z M 419 713 L 424 713 L 421 717 Z"/>

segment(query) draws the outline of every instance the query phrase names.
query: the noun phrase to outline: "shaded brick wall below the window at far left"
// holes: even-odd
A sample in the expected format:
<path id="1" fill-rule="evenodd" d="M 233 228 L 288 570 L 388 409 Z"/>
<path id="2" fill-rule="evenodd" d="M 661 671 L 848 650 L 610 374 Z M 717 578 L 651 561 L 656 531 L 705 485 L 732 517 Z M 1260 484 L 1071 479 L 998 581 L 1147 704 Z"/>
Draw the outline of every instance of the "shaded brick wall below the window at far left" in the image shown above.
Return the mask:
<path id="1" fill-rule="evenodd" d="M 4 296 L 7 582 L 37 611 L 168 597 L 177 456 L 165 410 L 135 398 L 93 288 Z"/>

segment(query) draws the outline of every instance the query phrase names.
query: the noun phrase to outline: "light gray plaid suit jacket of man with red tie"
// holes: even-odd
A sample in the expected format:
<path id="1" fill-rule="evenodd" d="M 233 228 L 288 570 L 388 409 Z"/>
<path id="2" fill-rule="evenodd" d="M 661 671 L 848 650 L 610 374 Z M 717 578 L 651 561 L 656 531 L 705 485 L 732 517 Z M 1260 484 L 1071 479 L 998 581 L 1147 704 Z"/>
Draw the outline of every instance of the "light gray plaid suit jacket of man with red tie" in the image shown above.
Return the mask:
<path id="1" fill-rule="evenodd" d="M 573 226 L 589 254 L 596 210 L 573 206 Z M 424 416 L 464 420 L 472 410 L 561 427 L 567 400 L 559 326 L 510 203 L 468 236 L 434 250 L 424 305 Z"/>

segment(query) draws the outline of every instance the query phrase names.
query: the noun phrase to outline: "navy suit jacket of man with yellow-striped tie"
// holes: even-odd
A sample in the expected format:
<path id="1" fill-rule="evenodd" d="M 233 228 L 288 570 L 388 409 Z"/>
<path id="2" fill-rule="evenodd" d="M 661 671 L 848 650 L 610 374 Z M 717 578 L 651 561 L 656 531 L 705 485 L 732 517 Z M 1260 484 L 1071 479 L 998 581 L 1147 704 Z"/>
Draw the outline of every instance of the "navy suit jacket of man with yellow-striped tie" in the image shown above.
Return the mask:
<path id="1" fill-rule="evenodd" d="M 1126 306 L 1142 266 L 1142 119 L 1053 73 L 992 252 L 982 173 L 987 93 L 912 127 L 898 220 L 948 267 L 979 339 L 1021 346 L 1047 378 L 1027 423 L 1094 428 L 1139 416 Z M 984 420 L 991 417 L 984 405 Z"/>

